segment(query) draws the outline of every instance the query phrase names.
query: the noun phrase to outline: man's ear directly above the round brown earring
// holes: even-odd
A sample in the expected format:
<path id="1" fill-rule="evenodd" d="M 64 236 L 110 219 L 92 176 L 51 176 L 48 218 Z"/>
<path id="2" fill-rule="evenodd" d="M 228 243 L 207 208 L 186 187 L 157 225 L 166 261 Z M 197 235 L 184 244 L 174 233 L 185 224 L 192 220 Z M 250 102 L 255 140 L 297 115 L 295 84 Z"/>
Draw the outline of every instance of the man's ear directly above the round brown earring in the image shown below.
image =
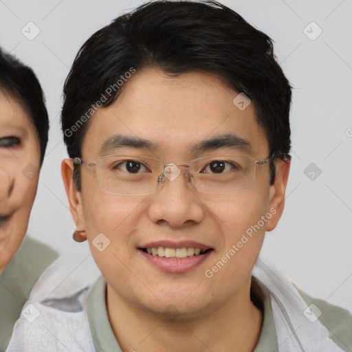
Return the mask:
<path id="1" fill-rule="evenodd" d="M 61 176 L 63 177 L 63 183 L 65 184 L 65 190 L 67 199 L 69 201 L 69 210 L 71 210 L 72 219 L 77 225 L 76 230 L 80 232 L 85 231 L 85 225 L 83 223 L 83 206 L 82 197 L 80 191 L 74 184 L 74 160 L 63 159 L 61 163 Z"/>

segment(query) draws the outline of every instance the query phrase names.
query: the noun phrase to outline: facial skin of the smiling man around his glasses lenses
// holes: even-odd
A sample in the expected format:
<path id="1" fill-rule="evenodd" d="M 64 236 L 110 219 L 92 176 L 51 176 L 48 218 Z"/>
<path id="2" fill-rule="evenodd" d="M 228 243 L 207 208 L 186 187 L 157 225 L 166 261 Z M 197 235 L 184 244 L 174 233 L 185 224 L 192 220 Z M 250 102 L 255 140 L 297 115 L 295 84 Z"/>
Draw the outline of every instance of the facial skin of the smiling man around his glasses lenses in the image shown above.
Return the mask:
<path id="1" fill-rule="evenodd" d="M 115 104 L 91 118 L 83 140 L 84 162 L 121 153 L 165 164 L 227 154 L 252 155 L 256 160 L 269 156 L 253 104 L 239 109 L 232 102 L 239 93 L 216 76 L 192 72 L 170 78 L 157 69 L 143 69 L 124 84 Z M 250 150 L 227 146 L 191 151 L 194 144 L 229 134 L 248 141 Z M 114 135 L 147 140 L 157 147 L 110 145 L 100 153 Z M 173 305 L 181 314 L 192 315 L 217 309 L 235 296 L 249 296 L 250 272 L 265 230 L 272 230 L 279 217 L 275 209 L 270 211 L 276 208 L 276 198 L 269 165 L 256 167 L 256 182 L 249 190 L 221 195 L 198 192 L 184 177 L 184 168 L 180 170 L 179 177 L 166 179 L 153 194 L 126 196 L 102 192 L 96 169 L 80 166 L 82 190 L 76 192 L 75 216 L 84 224 L 107 281 L 108 302 L 124 300 L 159 313 Z M 266 221 L 261 221 L 263 216 Z M 252 228 L 249 236 L 246 230 L 253 225 L 256 230 Z M 94 245 L 98 234 L 100 250 L 110 241 L 101 252 Z M 178 260 L 146 253 L 159 246 L 209 250 Z M 212 269 L 219 261 L 223 265 Z"/>

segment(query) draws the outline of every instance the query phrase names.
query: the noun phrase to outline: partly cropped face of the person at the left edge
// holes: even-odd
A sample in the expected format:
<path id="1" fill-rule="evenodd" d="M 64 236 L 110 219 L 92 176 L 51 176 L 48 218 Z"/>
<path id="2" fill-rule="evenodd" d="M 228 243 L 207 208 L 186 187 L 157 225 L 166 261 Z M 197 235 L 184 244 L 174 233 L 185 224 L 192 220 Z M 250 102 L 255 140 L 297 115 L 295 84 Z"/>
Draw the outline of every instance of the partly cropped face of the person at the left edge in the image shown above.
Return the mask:
<path id="1" fill-rule="evenodd" d="M 28 113 L 0 92 L 0 274 L 25 236 L 39 162 L 39 140 Z"/>

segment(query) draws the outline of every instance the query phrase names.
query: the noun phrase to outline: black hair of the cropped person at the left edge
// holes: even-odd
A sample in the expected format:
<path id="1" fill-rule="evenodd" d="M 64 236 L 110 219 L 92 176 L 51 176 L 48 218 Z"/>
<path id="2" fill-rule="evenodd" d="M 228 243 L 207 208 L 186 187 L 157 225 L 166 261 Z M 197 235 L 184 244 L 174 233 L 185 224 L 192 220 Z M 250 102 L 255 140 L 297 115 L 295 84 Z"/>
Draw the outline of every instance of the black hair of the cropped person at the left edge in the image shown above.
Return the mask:
<path id="1" fill-rule="evenodd" d="M 49 133 L 49 118 L 45 98 L 32 69 L 0 48 L 0 90 L 16 98 L 28 112 L 39 137 L 41 164 Z"/>

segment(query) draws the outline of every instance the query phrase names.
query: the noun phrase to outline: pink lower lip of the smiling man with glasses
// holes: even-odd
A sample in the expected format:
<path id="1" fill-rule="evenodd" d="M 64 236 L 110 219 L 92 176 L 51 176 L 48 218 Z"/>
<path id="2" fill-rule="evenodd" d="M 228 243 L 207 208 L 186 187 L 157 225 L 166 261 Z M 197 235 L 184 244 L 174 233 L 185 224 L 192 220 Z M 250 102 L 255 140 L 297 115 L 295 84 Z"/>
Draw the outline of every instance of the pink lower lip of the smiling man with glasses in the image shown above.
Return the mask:
<path id="1" fill-rule="evenodd" d="M 143 252 L 142 250 L 138 250 L 144 258 L 149 261 L 149 263 L 155 265 L 163 272 L 189 272 L 194 269 L 203 261 L 206 261 L 208 256 L 212 253 L 212 250 L 206 252 L 206 254 L 199 254 L 197 256 L 189 256 L 184 259 L 166 259 L 160 256 L 153 256 L 152 254 L 148 254 Z"/>

